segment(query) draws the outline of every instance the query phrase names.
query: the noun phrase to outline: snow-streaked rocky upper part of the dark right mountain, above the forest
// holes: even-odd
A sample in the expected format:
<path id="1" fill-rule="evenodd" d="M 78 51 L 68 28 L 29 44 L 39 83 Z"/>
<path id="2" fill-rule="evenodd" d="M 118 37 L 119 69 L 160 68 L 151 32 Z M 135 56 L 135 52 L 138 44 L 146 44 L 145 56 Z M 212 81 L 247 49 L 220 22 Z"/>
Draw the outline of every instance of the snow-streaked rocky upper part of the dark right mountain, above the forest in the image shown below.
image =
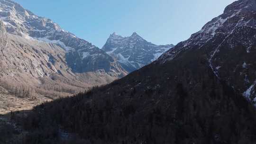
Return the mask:
<path id="1" fill-rule="evenodd" d="M 214 74 L 256 103 L 256 0 L 238 0 L 188 40 L 161 55 L 157 63 L 200 52 Z"/>

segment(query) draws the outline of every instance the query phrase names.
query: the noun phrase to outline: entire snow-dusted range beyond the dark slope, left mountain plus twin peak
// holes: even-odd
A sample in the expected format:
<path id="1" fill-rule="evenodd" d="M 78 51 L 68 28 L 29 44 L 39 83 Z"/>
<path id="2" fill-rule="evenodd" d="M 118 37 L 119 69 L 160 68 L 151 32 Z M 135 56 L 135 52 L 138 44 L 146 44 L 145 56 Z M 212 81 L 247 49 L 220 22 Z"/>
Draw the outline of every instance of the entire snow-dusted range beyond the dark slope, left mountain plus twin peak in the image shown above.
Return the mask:
<path id="1" fill-rule="evenodd" d="M 0 0 L 0 20 L 0 80 L 11 85 L 59 84 L 79 91 L 119 79 L 173 47 L 148 43 L 134 33 L 113 34 L 100 49 L 11 0 Z"/>

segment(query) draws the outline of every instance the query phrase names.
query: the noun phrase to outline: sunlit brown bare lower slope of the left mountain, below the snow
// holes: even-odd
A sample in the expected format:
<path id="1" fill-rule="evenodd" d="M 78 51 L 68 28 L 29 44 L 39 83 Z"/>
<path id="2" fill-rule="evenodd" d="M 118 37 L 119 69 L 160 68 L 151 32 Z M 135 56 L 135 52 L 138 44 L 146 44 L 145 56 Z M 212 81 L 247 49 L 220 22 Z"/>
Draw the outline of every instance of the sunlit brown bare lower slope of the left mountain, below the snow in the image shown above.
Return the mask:
<path id="1" fill-rule="evenodd" d="M 75 73 L 62 47 L 0 31 L 0 80 L 10 88 L 23 87 L 73 93 L 116 77 L 102 71 Z M 37 91 L 40 91 L 37 90 Z"/>

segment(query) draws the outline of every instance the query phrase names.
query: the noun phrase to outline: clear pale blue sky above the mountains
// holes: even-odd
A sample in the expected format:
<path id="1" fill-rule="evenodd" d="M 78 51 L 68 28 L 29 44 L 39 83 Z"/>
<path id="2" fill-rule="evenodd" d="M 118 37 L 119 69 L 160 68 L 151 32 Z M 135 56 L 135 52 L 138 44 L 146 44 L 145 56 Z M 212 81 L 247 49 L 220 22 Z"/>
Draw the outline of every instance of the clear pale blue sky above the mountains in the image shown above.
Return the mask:
<path id="1" fill-rule="evenodd" d="M 14 0 L 102 47 L 113 32 L 137 32 L 157 45 L 177 44 L 235 0 Z"/>

